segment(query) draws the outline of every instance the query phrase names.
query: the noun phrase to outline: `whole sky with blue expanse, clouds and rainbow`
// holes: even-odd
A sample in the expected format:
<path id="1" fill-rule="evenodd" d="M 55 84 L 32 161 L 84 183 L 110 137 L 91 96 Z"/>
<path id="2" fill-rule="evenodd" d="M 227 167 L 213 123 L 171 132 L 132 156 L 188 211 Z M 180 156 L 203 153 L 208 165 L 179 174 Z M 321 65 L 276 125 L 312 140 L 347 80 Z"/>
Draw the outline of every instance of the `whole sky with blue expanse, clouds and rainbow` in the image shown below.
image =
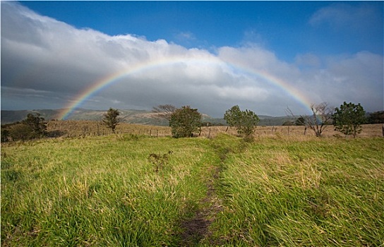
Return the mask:
<path id="1" fill-rule="evenodd" d="M 383 9 L 383 1 L 1 1 L 1 109 L 174 104 L 222 117 L 237 104 L 284 116 L 345 101 L 382 111 Z"/>

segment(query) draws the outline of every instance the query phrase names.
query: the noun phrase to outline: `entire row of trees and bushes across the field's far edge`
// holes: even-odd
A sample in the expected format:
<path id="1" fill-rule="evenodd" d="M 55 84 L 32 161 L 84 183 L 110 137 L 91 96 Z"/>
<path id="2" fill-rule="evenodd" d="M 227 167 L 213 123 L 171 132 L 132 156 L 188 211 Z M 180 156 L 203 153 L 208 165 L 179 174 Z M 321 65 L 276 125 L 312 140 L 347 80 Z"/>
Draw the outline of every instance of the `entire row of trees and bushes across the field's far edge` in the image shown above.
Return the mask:
<path id="1" fill-rule="evenodd" d="M 335 131 L 356 137 L 358 133 L 361 133 L 362 124 L 384 123 L 384 111 L 366 114 L 360 103 L 344 102 L 340 107 L 332 108 L 328 103 L 323 102 L 312 104 L 310 109 L 311 114 L 299 115 L 295 121 L 289 121 L 283 125 L 306 126 L 306 129 L 310 129 L 318 137 L 323 135 L 325 128 L 333 125 Z M 287 114 L 296 117 L 289 108 Z M 119 110 L 113 108 L 109 108 L 103 114 L 102 123 L 110 128 L 112 133 L 115 133 L 116 126 L 120 122 L 119 115 Z M 172 104 L 159 105 L 153 107 L 151 116 L 167 120 L 174 138 L 191 137 L 193 133 L 199 133 L 203 126 L 202 115 L 198 109 L 190 106 L 176 108 Z M 253 133 L 260 121 L 256 113 L 249 109 L 241 110 L 238 105 L 224 113 L 224 120 L 229 127 L 236 128 L 237 133 L 247 140 L 252 140 Z M 45 136 L 47 136 L 47 122 L 40 114 L 28 114 L 23 121 L 1 126 L 1 142 L 31 140 Z"/>

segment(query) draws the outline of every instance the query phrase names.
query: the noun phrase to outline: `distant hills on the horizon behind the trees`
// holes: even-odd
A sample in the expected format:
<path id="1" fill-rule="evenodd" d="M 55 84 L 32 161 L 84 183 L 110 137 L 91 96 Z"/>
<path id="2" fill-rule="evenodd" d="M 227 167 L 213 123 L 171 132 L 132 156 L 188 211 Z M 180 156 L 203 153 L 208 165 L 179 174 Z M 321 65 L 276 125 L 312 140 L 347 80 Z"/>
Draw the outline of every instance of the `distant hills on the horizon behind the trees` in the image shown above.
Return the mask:
<path id="1" fill-rule="evenodd" d="M 21 121 L 27 117 L 29 113 L 37 114 L 40 113 L 46 120 L 59 119 L 61 112 L 64 109 L 35 109 L 35 110 L 19 110 L 19 111 L 8 111 L 1 110 L 1 124 L 14 123 Z M 92 120 L 101 121 L 102 115 L 105 110 L 90 110 L 90 109 L 76 109 L 68 120 Z M 160 119 L 155 119 L 152 116 L 152 112 L 145 110 L 135 109 L 119 109 L 121 121 L 125 123 L 138 123 L 145 125 L 154 126 L 167 126 L 168 122 Z M 282 123 L 288 120 L 292 120 L 292 117 L 287 116 L 258 116 L 260 118 L 259 126 L 281 126 Z M 226 125 L 224 119 L 215 119 L 207 114 L 203 114 L 203 122 L 210 122 L 213 124 Z"/>

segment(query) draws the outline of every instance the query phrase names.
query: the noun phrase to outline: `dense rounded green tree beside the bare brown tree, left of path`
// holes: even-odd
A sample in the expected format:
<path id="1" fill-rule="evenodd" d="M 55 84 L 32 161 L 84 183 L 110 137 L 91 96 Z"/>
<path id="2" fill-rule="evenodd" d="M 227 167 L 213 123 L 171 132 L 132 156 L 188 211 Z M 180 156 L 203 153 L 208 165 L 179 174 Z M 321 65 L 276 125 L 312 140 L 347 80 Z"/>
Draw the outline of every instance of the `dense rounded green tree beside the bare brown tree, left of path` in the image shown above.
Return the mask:
<path id="1" fill-rule="evenodd" d="M 198 109 L 189 106 L 176 109 L 169 119 L 172 128 L 172 136 L 175 138 L 190 137 L 201 126 L 201 114 Z"/>

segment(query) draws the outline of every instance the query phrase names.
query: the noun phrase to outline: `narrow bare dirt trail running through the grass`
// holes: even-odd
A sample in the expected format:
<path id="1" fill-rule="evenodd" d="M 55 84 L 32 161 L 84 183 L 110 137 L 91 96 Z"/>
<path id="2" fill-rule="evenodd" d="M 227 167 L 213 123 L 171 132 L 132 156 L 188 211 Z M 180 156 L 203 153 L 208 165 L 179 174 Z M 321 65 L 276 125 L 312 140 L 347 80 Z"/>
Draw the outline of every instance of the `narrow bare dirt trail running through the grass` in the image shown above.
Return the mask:
<path id="1" fill-rule="evenodd" d="M 195 216 L 181 222 L 184 232 L 181 234 L 181 246 L 198 246 L 200 241 L 211 243 L 212 232 L 209 227 L 215 220 L 215 216 L 222 210 L 222 201 L 218 197 L 215 189 L 215 181 L 220 176 L 220 167 L 210 167 L 210 178 L 207 181 L 207 194 L 200 200 L 200 209 Z"/>

